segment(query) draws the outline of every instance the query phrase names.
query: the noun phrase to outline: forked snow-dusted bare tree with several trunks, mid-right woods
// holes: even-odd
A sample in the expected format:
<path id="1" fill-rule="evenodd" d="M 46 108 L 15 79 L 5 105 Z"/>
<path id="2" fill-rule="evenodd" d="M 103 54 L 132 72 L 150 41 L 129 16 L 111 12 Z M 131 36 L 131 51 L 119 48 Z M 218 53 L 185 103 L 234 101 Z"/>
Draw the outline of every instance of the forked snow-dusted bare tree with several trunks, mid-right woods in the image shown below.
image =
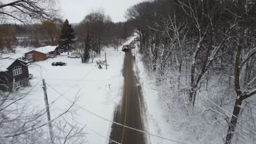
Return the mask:
<path id="1" fill-rule="evenodd" d="M 195 27 L 195 31 L 198 34 L 197 35 L 197 42 L 195 45 L 195 50 L 193 52 L 193 57 L 191 59 L 191 68 L 190 68 L 190 95 L 189 99 L 193 102 L 193 105 L 195 104 L 196 99 L 196 91 L 200 87 L 201 79 L 203 75 L 208 71 L 208 69 L 211 67 L 211 64 L 214 60 L 218 58 L 219 54 L 218 52 L 223 47 L 226 40 L 228 40 L 229 34 L 237 26 L 237 22 L 235 21 L 232 23 L 227 31 L 225 33 L 216 33 L 214 32 L 214 28 L 216 27 L 214 21 L 213 21 L 213 15 L 214 15 L 214 7 L 218 7 L 218 4 L 210 5 L 205 4 L 203 1 L 197 3 L 197 2 L 191 2 L 187 1 L 187 4 L 185 4 L 182 1 L 179 1 L 179 4 L 181 4 L 181 7 L 183 8 L 185 14 L 187 14 L 191 21 L 193 22 L 193 25 Z M 201 5 L 201 9 L 197 9 L 195 5 Z M 199 16 L 200 15 L 200 16 Z M 202 19 L 206 19 L 203 20 Z M 206 25 L 206 26 L 205 26 Z M 207 35 L 207 36 L 206 36 Z M 214 38 L 218 37 L 218 41 L 214 41 Z M 203 43 L 206 41 L 207 43 Z M 221 38 L 221 39 L 219 39 Z M 204 50 L 203 50 L 204 49 Z M 200 53 L 203 52 L 204 56 L 202 57 L 203 61 L 201 62 L 201 68 L 198 71 L 198 73 L 195 73 L 196 69 L 196 61 L 197 58 L 201 55 Z"/>

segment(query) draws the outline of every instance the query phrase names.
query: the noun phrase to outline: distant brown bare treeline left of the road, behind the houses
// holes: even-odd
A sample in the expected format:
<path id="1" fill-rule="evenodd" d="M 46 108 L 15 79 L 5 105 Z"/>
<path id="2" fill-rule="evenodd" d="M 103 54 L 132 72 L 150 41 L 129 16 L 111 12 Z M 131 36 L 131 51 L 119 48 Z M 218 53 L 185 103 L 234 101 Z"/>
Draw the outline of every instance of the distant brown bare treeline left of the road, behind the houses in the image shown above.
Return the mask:
<path id="1" fill-rule="evenodd" d="M 69 24 L 69 22 L 68 22 Z M 45 20 L 33 25 L 0 25 L 0 51 L 14 51 L 16 46 L 40 47 L 56 46 L 61 43 L 61 29 L 65 21 L 61 19 Z M 71 51 L 84 42 L 87 35 L 91 37 L 91 45 L 96 53 L 104 47 L 118 47 L 134 32 L 130 22 L 114 23 L 104 10 L 98 9 L 86 15 L 78 25 L 72 25 L 75 34 L 75 44 Z"/>

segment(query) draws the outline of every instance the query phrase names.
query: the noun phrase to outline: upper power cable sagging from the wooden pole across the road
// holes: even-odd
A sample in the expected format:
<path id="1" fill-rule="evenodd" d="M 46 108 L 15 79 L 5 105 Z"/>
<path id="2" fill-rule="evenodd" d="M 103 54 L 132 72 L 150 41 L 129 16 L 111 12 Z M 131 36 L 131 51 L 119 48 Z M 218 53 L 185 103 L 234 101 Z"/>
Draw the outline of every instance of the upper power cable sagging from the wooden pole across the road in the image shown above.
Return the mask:
<path id="1" fill-rule="evenodd" d="M 61 94 L 60 92 L 58 92 L 55 88 L 51 87 L 51 86 L 50 86 L 49 84 L 47 84 L 47 83 L 46 83 L 46 85 L 48 85 L 48 86 L 49 86 L 50 88 L 52 88 L 55 92 L 57 92 L 58 94 L 60 94 L 61 97 L 65 98 L 65 99 L 68 100 L 69 102 L 73 103 L 72 100 L 70 100 L 70 99 L 68 99 L 67 97 L 65 97 L 63 94 Z M 93 113 L 93 112 L 91 112 L 91 111 L 85 109 L 84 107 L 82 107 L 82 106 L 80 106 L 80 105 L 78 105 L 78 104 L 75 104 L 75 103 L 74 103 L 74 105 L 80 107 L 80 109 L 82 109 L 82 110 L 84 110 L 84 111 L 90 113 L 91 115 L 94 115 L 94 116 L 96 116 L 96 117 L 98 117 L 98 118 L 103 119 L 104 121 L 107 121 L 107 122 L 110 122 L 110 123 L 113 123 L 113 124 L 117 124 L 117 125 L 120 125 L 120 126 L 122 126 L 122 127 L 131 129 L 131 130 L 138 131 L 138 132 L 140 132 L 140 133 L 144 133 L 144 134 L 147 134 L 147 135 L 159 137 L 160 139 L 164 139 L 164 140 L 168 140 L 168 141 L 172 141 L 172 142 L 176 142 L 176 143 L 186 144 L 186 143 L 184 143 L 184 142 L 179 142 L 179 141 L 176 141 L 176 140 L 171 140 L 171 139 L 168 139 L 168 138 L 166 138 L 166 137 L 162 137 L 162 136 L 155 135 L 155 134 L 150 134 L 150 133 L 148 133 L 147 131 L 139 130 L 139 129 L 136 129 L 136 128 L 128 127 L 128 126 L 123 125 L 123 124 L 121 124 L 121 123 L 117 123 L 117 122 L 110 121 L 109 119 L 104 118 L 104 117 L 102 117 L 102 116 L 99 116 L 99 115 L 97 115 L 96 113 Z"/>

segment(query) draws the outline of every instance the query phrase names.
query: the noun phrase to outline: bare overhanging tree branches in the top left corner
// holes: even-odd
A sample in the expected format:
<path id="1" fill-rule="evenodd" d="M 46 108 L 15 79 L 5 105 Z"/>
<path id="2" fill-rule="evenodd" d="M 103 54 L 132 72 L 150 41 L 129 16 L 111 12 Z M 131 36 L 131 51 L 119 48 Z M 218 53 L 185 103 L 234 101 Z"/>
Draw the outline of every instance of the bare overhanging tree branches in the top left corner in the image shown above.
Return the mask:
<path id="1" fill-rule="evenodd" d="M 0 3 L 0 18 L 29 23 L 31 20 L 53 20 L 57 16 L 54 0 L 11 0 Z"/>

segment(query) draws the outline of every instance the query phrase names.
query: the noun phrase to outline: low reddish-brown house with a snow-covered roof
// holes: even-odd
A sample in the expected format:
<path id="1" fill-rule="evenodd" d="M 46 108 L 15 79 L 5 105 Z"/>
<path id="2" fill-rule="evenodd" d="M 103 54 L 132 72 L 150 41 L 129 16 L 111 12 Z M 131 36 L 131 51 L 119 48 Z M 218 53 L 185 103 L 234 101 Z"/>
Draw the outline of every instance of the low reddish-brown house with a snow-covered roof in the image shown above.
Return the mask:
<path id="1" fill-rule="evenodd" d="M 25 53 L 26 61 L 45 61 L 49 57 L 55 57 L 58 54 L 56 46 L 44 46 Z"/>

